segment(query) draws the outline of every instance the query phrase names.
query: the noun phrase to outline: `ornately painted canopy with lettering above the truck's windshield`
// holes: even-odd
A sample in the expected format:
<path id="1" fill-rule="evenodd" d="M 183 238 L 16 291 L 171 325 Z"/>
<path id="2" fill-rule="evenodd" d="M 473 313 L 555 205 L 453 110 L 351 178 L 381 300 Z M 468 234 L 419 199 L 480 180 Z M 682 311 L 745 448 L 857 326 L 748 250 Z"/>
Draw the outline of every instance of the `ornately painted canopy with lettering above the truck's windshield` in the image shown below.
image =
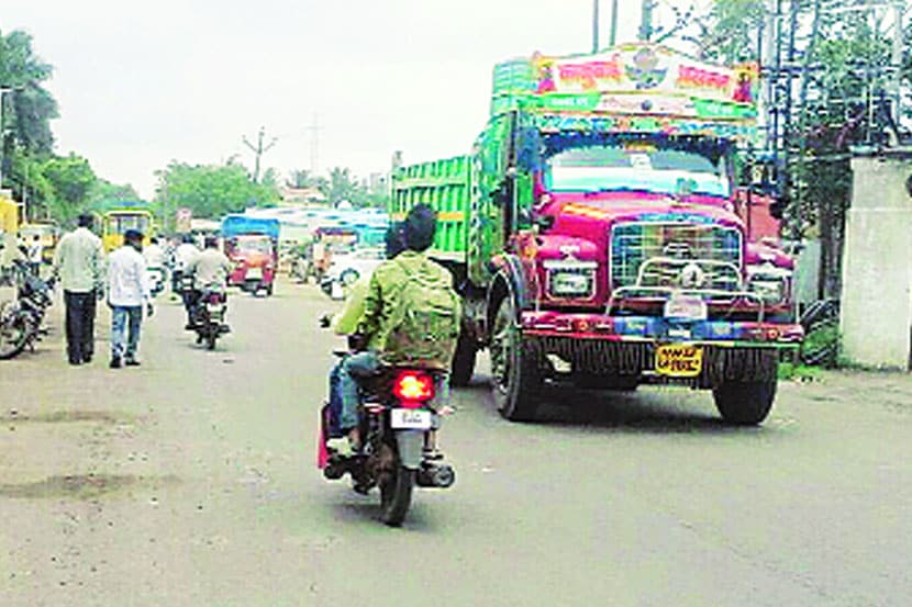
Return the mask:
<path id="1" fill-rule="evenodd" d="M 530 58 L 494 67 L 491 115 L 532 112 L 543 132 L 752 139 L 758 68 L 714 66 L 663 46 Z"/>

